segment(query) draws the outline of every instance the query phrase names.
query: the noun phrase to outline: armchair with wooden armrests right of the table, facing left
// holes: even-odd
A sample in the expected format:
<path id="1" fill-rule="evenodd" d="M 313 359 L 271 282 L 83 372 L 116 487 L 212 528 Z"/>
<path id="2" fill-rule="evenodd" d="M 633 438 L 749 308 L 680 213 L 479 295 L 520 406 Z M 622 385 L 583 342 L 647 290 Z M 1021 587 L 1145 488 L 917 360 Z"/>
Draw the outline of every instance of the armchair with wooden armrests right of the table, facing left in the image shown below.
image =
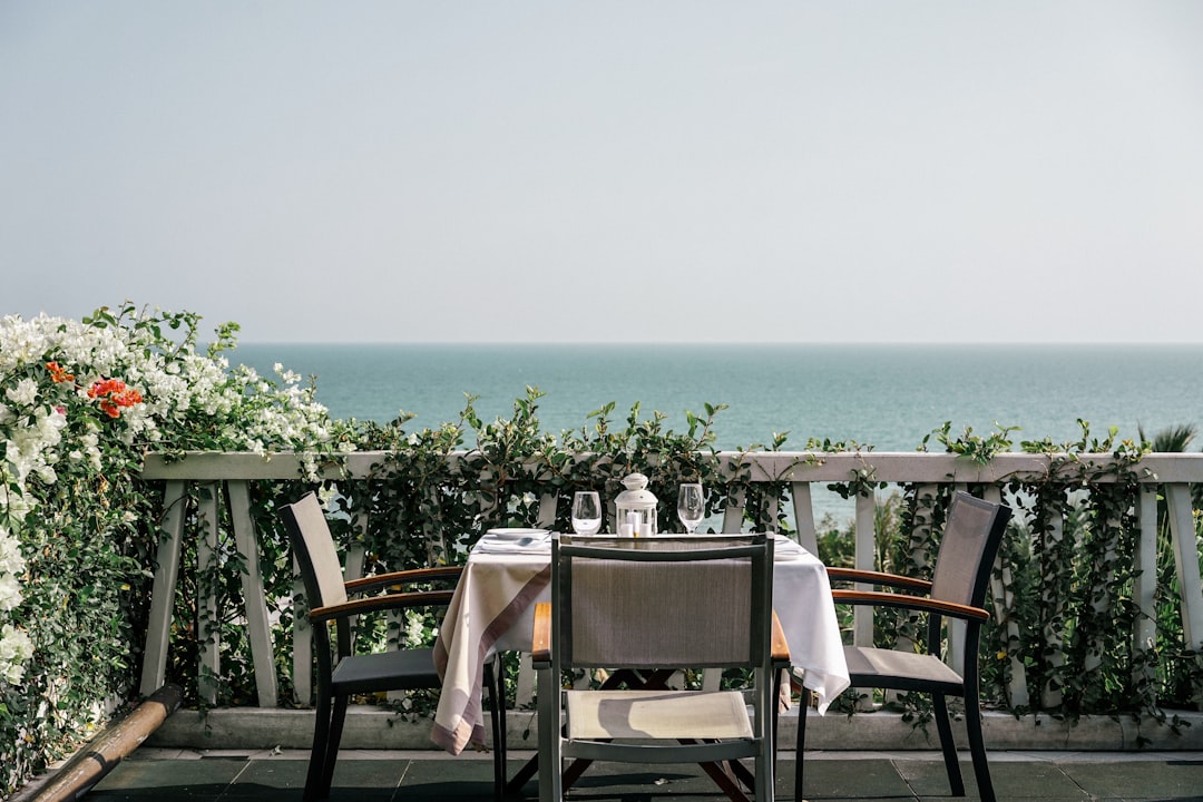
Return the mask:
<path id="1" fill-rule="evenodd" d="M 982 608 L 990 583 L 994 559 L 1007 529 L 1011 509 L 983 501 L 958 492 L 948 507 L 944 533 L 936 558 L 936 569 L 930 582 L 913 577 L 831 568 L 828 576 L 832 581 L 854 581 L 896 592 L 881 590 L 832 590 L 836 604 L 879 605 L 928 613 L 928 644 L 923 654 L 867 646 L 845 647 L 848 676 L 853 688 L 885 688 L 931 694 L 940 745 L 944 755 L 944 768 L 953 796 L 965 796 L 956 760 L 956 744 L 948 717 L 947 696 L 965 700 L 965 730 L 970 754 L 973 758 L 973 774 L 983 802 L 994 802 L 994 784 L 986 764 L 985 744 L 982 739 L 982 717 L 978 709 L 978 637 L 982 624 L 990 614 Z M 924 595 L 915 595 L 924 594 Z M 949 626 L 944 640 L 944 617 L 964 622 L 962 626 Z M 952 643 L 949 643 L 952 642 Z M 964 655 L 960 672 L 949 666 L 944 658 L 956 646 Z M 795 788 L 799 798 L 802 792 L 802 753 L 806 748 L 805 694 L 798 719 L 798 755 L 795 762 Z"/>

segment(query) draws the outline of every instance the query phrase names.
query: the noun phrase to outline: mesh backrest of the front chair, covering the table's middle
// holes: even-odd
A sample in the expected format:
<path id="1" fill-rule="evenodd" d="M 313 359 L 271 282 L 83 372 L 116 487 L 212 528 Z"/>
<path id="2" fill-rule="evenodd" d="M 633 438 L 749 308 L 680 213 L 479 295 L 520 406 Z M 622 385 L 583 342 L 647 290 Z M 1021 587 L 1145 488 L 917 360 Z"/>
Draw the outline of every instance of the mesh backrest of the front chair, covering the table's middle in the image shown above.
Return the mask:
<path id="1" fill-rule="evenodd" d="M 761 665 L 771 548 L 763 536 L 562 536 L 552 562 L 561 666 Z"/>

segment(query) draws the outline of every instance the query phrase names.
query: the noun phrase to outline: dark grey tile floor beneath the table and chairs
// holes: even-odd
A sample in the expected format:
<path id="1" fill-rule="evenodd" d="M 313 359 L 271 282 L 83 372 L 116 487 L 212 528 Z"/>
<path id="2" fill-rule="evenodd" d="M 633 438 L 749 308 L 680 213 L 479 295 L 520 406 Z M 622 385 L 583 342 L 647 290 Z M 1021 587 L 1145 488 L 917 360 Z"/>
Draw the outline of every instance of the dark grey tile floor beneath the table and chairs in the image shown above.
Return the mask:
<path id="1" fill-rule="evenodd" d="M 515 754 L 511 774 L 525 753 Z M 123 800 L 256 800 L 298 802 L 304 784 L 301 751 L 223 753 L 142 749 L 101 779 L 84 802 Z M 991 753 L 1000 800 L 1203 801 L 1201 753 Z M 970 798 L 977 789 L 962 764 Z M 778 765 L 777 797 L 795 800 L 794 764 Z M 582 802 L 719 802 L 697 767 L 595 764 L 574 786 Z M 807 756 L 805 798 L 812 801 L 948 800 L 943 764 L 926 753 L 814 753 Z M 522 797 L 538 797 L 534 782 Z M 450 758 L 427 751 L 345 751 L 331 800 L 423 802 L 492 800 L 487 755 Z"/>

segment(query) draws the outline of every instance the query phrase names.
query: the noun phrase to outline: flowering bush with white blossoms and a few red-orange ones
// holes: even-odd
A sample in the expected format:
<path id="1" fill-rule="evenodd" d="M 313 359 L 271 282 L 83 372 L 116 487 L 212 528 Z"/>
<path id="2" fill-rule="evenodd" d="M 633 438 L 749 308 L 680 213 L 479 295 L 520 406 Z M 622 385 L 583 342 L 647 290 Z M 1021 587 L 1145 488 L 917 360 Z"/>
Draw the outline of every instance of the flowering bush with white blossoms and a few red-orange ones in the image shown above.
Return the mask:
<path id="1" fill-rule="evenodd" d="M 230 367 L 237 326 L 198 351 L 198 321 L 129 304 L 0 319 L 0 796 L 134 687 L 158 545 L 147 450 L 352 447 L 295 374 Z"/>

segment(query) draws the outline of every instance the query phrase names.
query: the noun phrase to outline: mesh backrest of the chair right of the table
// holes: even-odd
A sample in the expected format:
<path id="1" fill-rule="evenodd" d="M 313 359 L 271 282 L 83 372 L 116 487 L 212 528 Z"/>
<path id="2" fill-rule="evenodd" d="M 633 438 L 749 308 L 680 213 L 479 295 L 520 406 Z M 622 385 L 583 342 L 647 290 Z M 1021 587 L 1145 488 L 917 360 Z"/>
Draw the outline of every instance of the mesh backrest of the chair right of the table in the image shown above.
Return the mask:
<path id="1" fill-rule="evenodd" d="M 948 507 L 931 595 L 980 607 L 1011 510 L 958 492 Z"/>

